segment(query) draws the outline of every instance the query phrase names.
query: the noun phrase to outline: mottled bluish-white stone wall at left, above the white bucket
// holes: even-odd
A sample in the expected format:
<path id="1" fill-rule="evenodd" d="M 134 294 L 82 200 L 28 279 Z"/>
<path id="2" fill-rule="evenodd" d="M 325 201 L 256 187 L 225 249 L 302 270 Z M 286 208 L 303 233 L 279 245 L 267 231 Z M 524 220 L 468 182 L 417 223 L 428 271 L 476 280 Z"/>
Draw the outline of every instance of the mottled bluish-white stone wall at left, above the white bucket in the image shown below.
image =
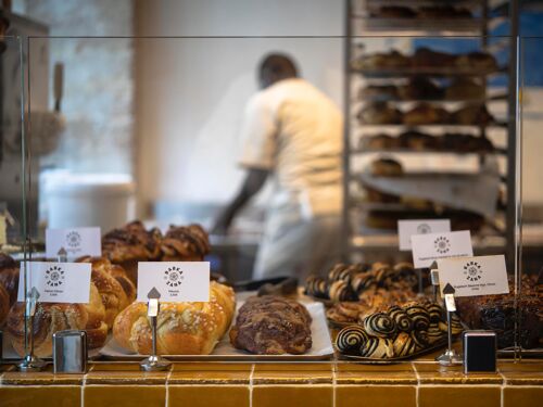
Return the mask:
<path id="1" fill-rule="evenodd" d="M 131 0 L 20 0 L 14 11 L 45 23 L 51 36 L 131 36 Z M 127 173 L 134 162 L 131 39 L 49 39 L 50 73 L 65 65 L 66 130 L 49 167 Z M 30 84 L 31 85 L 31 84 Z M 50 80 L 52 87 L 52 80 Z M 52 88 L 50 104 L 52 109 Z"/>

